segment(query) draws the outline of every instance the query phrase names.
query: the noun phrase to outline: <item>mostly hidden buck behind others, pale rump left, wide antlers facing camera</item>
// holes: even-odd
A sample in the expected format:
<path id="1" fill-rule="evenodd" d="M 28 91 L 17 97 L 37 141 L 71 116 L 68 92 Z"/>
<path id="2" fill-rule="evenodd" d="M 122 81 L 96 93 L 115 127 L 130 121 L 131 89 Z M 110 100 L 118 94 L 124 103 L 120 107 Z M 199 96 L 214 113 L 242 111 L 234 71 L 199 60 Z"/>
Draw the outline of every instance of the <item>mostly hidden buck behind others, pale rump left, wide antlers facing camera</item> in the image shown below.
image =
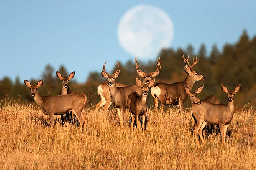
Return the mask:
<path id="1" fill-rule="evenodd" d="M 159 60 L 157 59 L 157 69 L 154 72 L 150 72 L 150 73 L 145 73 L 145 71 L 141 71 L 139 69 L 139 65 L 137 64 L 138 62 L 138 57 L 135 57 L 135 66 L 136 66 L 136 72 L 138 73 L 138 75 L 140 77 L 144 77 L 143 83 L 147 84 L 153 77 L 156 77 L 159 74 L 160 68 L 161 68 L 161 59 L 159 57 Z M 117 87 L 127 87 L 129 85 L 126 84 L 121 84 L 116 82 L 116 86 Z M 100 96 L 100 102 L 97 103 L 96 107 L 95 107 L 95 111 L 99 110 L 100 107 L 102 107 L 104 105 L 104 110 L 107 111 L 108 108 L 111 105 L 111 95 L 109 92 L 109 88 L 108 88 L 108 82 L 102 82 L 99 86 L 98 86 L 98 95 Z"/>

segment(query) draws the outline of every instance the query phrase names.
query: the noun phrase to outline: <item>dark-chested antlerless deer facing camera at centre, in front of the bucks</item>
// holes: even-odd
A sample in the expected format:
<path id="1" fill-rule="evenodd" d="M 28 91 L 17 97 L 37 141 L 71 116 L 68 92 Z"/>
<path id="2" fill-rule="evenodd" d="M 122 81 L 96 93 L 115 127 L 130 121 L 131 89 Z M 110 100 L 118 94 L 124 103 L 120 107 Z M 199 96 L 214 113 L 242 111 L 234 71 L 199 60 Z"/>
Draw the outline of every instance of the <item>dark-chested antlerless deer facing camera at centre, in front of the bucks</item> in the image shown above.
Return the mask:
<path id="1" fill-rule="evenodd" d="M 129 112 L 131 114 L 131 130 L 133 131 L 134 126 L 134 120 L 136 120 L 137 123 L 137 129 L 141 129 L 141 123 L 139 121 L 139 117 L 142 117 L 142 130 L 143 134 L 145 131 L 145 120 L 146 120 L 146 114 L 147 114 L 147 96 L 148 96 L 148 90 L 150 87 L 154 86 L 156 80 L 152 79 L 148 82 L 148 84 L 142 83 L 141 80 L 138 80 L 136 78 L 136 85 L 138 87 L 141 87 L 141 96 L 137 92 L 131 92 L 131 94 L 128 96 L 127 99 L 127 105 L 129 108 Z"/>

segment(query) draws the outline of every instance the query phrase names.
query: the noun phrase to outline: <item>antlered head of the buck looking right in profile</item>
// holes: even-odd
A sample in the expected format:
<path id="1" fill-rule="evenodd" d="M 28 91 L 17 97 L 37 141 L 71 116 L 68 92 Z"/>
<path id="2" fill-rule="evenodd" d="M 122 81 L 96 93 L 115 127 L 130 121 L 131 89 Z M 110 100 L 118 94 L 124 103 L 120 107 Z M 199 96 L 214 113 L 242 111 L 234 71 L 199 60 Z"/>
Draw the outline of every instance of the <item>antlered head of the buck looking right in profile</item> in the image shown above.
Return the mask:
<path id="1" fill-rule="evenodd" d="M 187 59 L 185 59 L 184 55 L 182 55 L 182 58 L 183 58 L 183 60 L 186 64 L 185 67 L 184 67 L 185 72 L 187 72 L 194 79 L 194 81 L 200 81 L 200 80 L 205 79 L 204 76 L 198 74 L 197 72 L 195 72 L 193 70 L 193 67 L 199 62 L 197 57 L 196 57 L 196 60 L 193 57 L 193 64 L 192 65 L 189 64 L 189 55 L 188 55 Z"/>

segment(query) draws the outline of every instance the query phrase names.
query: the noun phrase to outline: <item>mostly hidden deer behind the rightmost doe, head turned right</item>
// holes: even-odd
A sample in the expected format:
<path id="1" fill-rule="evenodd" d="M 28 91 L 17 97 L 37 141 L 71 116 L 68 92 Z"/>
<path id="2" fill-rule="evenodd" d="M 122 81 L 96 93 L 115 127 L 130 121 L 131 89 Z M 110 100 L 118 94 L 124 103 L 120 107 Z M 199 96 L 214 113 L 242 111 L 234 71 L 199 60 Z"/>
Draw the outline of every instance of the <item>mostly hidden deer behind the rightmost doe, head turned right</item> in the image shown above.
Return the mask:
<path id="1" fill-rule="evenodd" d="M 203 88 L 204 88 L 204 85 L 202 85 L 197 90 L 195 90 L 195 92 L 191 92 L 192 95 L 194 95 L 195 97 L 198 97 L 198 94 L 202 91 Z M 188 87 L 185 85 L 185 91 L 186 91 L 186 89 L 188 89 Z M 203 99 L 201 101 L 212 103 L 212 104 L 215 104 L 215 105 L 219 105 L 220 104 L 220 99 L 218 99 L 218 97 L 216 97 L 215 95 L 209 95 L 209 96 L 205 97 L 205 99 Z M 211 126 L 211 129 L 213 130 L 213 125 L 210 124 L 210 126 Z M 205 136 L 206 136 L 206 128 L 203 130 L 204 140 L 205 140 Z"/>

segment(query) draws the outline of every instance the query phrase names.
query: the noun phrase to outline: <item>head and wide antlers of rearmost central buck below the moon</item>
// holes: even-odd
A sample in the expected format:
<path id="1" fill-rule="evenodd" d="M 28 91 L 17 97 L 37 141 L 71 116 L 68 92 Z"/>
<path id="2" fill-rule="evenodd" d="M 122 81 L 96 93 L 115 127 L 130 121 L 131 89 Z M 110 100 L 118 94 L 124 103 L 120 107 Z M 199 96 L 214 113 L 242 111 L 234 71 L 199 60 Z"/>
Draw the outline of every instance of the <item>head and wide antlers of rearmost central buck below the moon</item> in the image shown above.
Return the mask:
<path id="1" fill-rule="evenodd" d="M 138 66 L 138 57 L 136 56 L 135 57 L 135 67 L 136 67 L 136 70 L 137 70 L 137 73 L 138 73 L 138 75 L 140 76 L 140 77 L 144 77 L 144 84 L 148 84 L 149 83 L 149 81 L 153 78 L 153 77 L 156 77 L 158 74 L 159 74 L 159 72 L 160 72 L 160 69 L 161 69 L 161 66 L 162 66 L 162 61 L 161 61 L 161 58 L 159 57 L 159 61 L 158 61 L 158 59 L 156 58 L 156 60 L 157 60 L 157 69 L 156 69 L 156 71 L 154 71 L 154 72 L 152 72 L 152 71 L 150 71 L 150 73 L 146 73 L 145 72 L 145 70 L 142 72 L 140 69 L 139 69 L 139 67 L 140 67 L 140 65 L 141 64 L 139 64 L 139 66 Z"/>

